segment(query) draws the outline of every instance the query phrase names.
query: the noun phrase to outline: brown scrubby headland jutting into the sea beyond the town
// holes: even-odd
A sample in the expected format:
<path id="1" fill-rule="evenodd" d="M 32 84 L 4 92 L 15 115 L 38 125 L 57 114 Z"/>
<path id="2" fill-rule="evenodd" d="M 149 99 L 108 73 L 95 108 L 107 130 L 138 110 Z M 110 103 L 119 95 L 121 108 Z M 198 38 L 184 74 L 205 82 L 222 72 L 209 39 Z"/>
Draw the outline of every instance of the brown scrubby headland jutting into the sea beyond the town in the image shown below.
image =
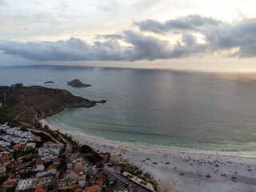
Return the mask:
<path id="1" fill-rule="evenodd" d="M 0 121 L 34 122 L 71 107 L 92 107 L 97 102 L 74 96 L 67 90 L 42 86 L 0 86 Z M 102 102 L 102 101 L 101 101 Z M 104 101 L 105 102 L 105 101 Z"/>

